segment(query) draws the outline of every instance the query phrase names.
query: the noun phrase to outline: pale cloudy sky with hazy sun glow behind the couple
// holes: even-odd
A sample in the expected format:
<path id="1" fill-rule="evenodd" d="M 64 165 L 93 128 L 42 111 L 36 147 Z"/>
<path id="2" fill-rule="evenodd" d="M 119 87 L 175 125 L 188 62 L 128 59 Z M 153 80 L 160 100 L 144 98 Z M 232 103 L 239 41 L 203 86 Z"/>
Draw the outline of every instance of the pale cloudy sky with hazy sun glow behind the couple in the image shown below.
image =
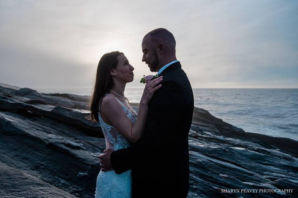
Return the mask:
<path id="1" fill-rule="evenodd" d="M 298 1 L 0 1 L 0 82 L 91 88 L 99 59 L 121 51 L 126 88 L 155 74 L 142 38 L 166 28 L 192 88 L 298 88 Z"/>

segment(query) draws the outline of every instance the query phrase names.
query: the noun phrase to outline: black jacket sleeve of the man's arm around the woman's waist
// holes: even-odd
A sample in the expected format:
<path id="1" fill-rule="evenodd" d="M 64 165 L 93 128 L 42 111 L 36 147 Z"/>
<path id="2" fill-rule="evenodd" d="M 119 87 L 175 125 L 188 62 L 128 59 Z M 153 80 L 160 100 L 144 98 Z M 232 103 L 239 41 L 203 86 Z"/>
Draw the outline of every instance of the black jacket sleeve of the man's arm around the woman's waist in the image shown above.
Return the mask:
<path id="1" fill-rule="evenodd" d="M 145 163 L 153 153 L 165 155 L 173 148 L 177 125 L 186 106 L 183 90 L 173 80 L 164 80 L 150 101 L 144 135 L 130 147 L 111 153 L 111 164 L 121 174 Z M 177 138 L 177 137 L 176 137 Z M 124 163 L 125 162 L 125 163 Z"/>

